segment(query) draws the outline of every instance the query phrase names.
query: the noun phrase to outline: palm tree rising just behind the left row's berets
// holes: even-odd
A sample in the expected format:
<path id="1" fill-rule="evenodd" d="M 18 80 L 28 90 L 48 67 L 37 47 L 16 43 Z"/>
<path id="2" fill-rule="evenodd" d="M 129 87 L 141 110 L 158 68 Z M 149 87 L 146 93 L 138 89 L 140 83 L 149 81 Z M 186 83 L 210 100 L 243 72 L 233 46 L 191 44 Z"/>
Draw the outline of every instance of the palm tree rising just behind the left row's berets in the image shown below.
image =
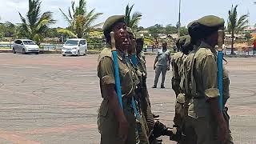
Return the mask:
<path id="1" fill-rule="evenodd" d="M 142 19 L 142 13 L 140 12 L 134 12 L 132 16 L 131 10 L 133 10 L 134 5 L 129 6 L 129 4 L 126 6 L 126 15 L 125 15 L 125 22 L 126 26 L 130 27 L 132 30 L 136 29 L 138 27 L 138 22 Z"/>

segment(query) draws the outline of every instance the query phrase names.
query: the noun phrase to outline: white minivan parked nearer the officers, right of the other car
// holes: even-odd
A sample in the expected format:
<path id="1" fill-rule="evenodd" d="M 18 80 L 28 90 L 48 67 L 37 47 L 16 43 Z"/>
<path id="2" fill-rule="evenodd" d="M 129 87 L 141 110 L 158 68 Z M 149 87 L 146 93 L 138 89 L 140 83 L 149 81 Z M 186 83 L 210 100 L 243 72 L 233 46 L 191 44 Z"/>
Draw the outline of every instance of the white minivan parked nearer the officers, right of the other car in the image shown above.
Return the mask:
<path id="1" fill-rule="evenodd" d="M 62 56 L 66 55 L 86 55 L 87 42 L 83 38 L 72 38 L 65 42 L 62 47 Z"/>

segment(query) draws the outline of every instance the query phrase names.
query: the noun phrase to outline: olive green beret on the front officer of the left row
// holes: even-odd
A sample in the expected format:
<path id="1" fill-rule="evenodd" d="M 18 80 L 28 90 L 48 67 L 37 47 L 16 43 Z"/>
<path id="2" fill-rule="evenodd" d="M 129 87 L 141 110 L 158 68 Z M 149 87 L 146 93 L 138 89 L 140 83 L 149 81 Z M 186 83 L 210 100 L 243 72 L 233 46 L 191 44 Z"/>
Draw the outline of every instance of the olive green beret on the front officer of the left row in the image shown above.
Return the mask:
<path id="1" fill-rule="evenodd" d="M 124 15 L 113 15 L 113 16 L 110 16 L 109 18 L 107 18 L 102 27 L 104 34 L 110 33 L 110 30 L 112 29 L 112 27 L 115 23 L 125 22 L 124 18 L 125 18 Z"/>

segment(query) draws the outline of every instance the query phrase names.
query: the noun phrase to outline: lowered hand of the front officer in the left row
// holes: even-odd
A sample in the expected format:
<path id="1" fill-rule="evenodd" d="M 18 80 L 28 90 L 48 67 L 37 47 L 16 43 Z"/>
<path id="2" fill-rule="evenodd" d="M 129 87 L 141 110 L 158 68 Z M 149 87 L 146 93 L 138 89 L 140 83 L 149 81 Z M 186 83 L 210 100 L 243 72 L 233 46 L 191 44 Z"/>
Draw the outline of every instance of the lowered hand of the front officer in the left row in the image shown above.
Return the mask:
<path id="1" fill-rule="evenodd" d="M 119 122 L 118 136 L 122 140 L 122 142 L 126 142 L 128 136 L 129 124 L 127 120 L 124 118 L 121 122 Z"/>

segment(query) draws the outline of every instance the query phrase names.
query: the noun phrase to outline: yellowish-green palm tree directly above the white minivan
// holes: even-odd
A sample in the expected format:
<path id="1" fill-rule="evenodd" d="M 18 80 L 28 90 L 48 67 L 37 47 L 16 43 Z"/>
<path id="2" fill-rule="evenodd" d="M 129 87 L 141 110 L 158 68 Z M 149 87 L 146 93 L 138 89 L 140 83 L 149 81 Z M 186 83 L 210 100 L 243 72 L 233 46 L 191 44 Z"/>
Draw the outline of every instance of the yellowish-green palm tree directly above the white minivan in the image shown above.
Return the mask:
<path id="1" fill-rule="evenodd" d="M 102 26 L 102 23 L 93 25 L 95 20 L 102 15 L 102 13 L 95 13 L 95 9 L 87 12 L 86 0 L 79 0 L 78 6 L 74 6 L 74 2 L 71 2 L 71 8 L 68 9 L 68 14 L 65 14 L 62 9 L 63 18 L 68 22 L 68 29 L 60 29 L 59 33 L 68 34 L 74 38 L 86 37 L 90 30 Z"/>

